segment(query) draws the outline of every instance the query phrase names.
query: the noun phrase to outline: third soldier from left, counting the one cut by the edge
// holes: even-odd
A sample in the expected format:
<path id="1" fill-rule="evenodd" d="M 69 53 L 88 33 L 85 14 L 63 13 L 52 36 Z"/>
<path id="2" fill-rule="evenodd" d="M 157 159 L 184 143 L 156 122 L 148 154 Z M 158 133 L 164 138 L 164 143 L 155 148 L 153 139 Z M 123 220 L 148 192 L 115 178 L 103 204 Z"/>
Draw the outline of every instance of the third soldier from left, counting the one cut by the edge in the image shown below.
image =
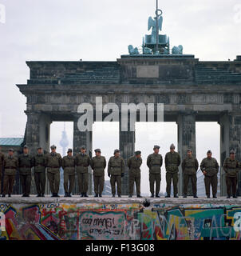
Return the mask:
<path id="1" fill-rule="evenodd" d="M 20 181 L 22 183 L 22 197 L 29 197 L 32 180 L 31 168 L 34 166 L 34 161 L 29 154 L 28 146 L 24 146 L 23 154 L 18 156 L 18 166 Z"/>

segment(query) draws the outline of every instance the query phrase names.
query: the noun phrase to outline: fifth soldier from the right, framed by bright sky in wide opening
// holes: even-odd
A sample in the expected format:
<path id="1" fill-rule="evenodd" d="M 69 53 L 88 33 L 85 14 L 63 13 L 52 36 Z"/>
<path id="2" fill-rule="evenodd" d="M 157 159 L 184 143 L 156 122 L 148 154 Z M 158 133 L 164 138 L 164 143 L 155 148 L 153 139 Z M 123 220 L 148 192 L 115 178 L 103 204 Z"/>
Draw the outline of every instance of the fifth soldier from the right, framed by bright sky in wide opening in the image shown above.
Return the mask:
<path id="1" fill-rule="evenodd" d="M 147 166 L 149 168 L 149 182 L 151 198 L 154 198 L 154 186 L 156 182 L 156 198 L 160 198 L 160 167 L 162 166 L 162 155 L 159 154 L 160 146 L 154 146 L 154 153 L 148 155 Z"/>

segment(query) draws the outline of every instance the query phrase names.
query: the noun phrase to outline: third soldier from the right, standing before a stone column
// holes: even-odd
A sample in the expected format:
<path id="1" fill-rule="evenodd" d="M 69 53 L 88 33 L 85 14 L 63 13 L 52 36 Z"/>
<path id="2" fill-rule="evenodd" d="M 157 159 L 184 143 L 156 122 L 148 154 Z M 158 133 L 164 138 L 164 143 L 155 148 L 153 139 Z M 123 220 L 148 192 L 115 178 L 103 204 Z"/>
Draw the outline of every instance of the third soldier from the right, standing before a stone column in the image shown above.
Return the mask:
<path id="1" fill-rule="evenodd" d="M 192 150 L 188 150 L 188 155 L 182 162 L 182 170 L 184 174 L 184 198 L 188 195 L 188 182 L 192 182 L 193 198 L 198 198 L 196 195 L 196 171 L 199 168 L 199 162 L 192 156 Z"/>

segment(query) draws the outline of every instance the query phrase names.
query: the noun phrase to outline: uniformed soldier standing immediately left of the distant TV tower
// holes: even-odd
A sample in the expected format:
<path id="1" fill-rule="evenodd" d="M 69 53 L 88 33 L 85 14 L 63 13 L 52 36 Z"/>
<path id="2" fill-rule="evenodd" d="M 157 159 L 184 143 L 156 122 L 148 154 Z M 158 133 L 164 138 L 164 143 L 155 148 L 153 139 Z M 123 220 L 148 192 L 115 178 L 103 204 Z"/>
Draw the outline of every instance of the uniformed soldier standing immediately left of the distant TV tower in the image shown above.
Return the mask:
<path id="1" fill-rule="evenodd" d="M 51 153 L 46 156 L 47 176 L 49 186 L 52 193 L 52 198 L 58 198 L 59 183 L 60 183 L 60 168 L 62 166 L 61 154 L 56 152 L 56 146 L 51 146 Z"/>

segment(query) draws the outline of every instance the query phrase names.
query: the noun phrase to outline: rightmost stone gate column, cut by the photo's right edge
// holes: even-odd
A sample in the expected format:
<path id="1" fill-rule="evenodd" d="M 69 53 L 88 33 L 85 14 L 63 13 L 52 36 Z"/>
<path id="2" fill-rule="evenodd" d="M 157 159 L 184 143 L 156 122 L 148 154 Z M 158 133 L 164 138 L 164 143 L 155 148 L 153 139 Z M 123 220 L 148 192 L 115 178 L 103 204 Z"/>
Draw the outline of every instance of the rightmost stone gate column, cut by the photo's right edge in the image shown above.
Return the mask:
<path id="1" fill-rule="evenodd" d="M 220 193 L 226 195 L 225 173 L 223 162 L 229 156 L 231 149 L 235 150 L 235 158 L 241 161 L 241 115 L 237 113 L 224 113 L 220 116 Z M 238 175 L 238 195 L 241 194 L 241 174 Z"/>

